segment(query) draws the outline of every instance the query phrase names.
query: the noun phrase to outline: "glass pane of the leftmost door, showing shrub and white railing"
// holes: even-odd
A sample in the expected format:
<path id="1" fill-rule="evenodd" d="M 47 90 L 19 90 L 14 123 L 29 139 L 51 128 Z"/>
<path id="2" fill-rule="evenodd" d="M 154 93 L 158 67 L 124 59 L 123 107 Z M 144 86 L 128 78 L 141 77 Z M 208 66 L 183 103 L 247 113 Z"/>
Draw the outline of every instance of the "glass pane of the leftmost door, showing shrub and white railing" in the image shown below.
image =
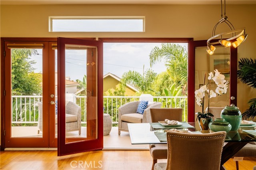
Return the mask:
<path id="1" fill-rule="evenodd" d="M 11 137 L 41 137 L 42 49 L 12 48 Z"/>

